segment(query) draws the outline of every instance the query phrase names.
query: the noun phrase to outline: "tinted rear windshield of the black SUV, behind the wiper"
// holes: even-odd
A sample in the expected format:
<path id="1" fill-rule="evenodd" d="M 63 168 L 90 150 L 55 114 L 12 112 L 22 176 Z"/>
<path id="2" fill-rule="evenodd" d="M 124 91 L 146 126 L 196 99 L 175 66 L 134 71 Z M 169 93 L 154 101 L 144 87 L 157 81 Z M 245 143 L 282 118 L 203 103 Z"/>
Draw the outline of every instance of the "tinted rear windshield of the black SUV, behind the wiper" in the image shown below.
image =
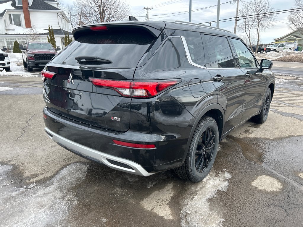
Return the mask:
<path id="1" fill-rule="evenodd" d="M 114 68 L 136 67 L 154 37 L 143 29 L 125 28 L 88 31 L 72 42 L 52 62 L 67 65 L 89 65 Z M 78 56 L 95 56 L 111 60 L 93 62 L 75 60 Z"/>

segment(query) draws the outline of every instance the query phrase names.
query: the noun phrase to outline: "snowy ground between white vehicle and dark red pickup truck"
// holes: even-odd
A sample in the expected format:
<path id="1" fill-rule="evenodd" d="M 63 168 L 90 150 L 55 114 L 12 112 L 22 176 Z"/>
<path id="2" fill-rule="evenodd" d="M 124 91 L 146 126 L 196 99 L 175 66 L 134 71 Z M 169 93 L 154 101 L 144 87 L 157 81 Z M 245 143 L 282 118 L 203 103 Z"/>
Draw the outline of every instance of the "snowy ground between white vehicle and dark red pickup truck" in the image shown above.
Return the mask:
<path id="1" fill-rule="evenodd" d="M 0 68 L 0 76 L 22 76 L 22 77 L 38 77 L 40 76 L 40 69 L 34 69 L 33 72 L 28 72 L 26 68 L 23 67 L 22 54 L 8 54 L 11 60 L 11 70 L 6 72 L 3 68 Z"/>

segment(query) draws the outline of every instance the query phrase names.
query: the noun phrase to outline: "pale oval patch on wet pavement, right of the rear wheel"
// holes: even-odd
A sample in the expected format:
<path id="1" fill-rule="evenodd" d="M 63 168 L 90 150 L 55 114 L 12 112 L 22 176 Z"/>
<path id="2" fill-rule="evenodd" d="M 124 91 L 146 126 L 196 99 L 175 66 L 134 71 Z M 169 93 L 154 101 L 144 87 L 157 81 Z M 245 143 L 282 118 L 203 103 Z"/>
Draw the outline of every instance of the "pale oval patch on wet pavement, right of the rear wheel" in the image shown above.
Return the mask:
<path id="1" fill-rule="evenodd" d="M 282 184 L 277 179 L 266 175 L 258 176 L 251 185 L 268 192 L 280 191 L 282 188 Z"/>

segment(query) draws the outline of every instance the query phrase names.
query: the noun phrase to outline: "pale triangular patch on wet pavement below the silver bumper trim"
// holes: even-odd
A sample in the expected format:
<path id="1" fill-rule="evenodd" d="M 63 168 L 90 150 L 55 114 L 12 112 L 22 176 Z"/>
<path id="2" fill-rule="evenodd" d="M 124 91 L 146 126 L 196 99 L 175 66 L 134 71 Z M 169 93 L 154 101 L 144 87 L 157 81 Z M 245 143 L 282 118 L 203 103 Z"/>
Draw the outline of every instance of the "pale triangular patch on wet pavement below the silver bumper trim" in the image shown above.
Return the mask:
<path id="1" fill-rule="evenodd" d="M 165 186 L 164 189 L 153 192 L 150 196 L 144 199 L 141 204 L 148 211 L 155 212 L 165 219 L 172 219 L 171 209 L 168 206 L 168 203 L 174 194 L 172 187 L 173 184 L 170 183 Z"/>

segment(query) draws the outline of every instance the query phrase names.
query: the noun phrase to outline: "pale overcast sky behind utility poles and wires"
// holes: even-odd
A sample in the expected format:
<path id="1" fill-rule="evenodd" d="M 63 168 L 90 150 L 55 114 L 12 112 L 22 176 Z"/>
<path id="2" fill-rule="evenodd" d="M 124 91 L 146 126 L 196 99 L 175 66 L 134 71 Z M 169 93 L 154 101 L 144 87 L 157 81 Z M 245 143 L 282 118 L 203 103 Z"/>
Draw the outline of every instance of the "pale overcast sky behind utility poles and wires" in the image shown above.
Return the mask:
<path id="1" fill-rule="evenodd" d="M 73 0 L 65 0 L 64 2 L 72 2 Z M 172 15 L 160 15 L 160 14 L 168 14 L 175 12 L 183 12 L 189 10 L 189 0 L 125 0 L 128 2 L 131 8 L 131 14 L 138 18 L 138 20 L 144 20 L 146 10 L 142 10 L 144 7 L 152 7 L 153 9 L 149 11 L 150 20 L 161 21 L 161 20 L 181 20 L 188 21 L 189 14 L 186 13 L 178 13 Z M 235 17 L 236 14 L 236 4 L 225 3 L 231 0 L 221 0 L 220 6 L 220 19 Z M 248 0 L 243 0 L 248 1 Z M 240 0 L 239 8 L 242 6 L 242 2 Z M 285 10 L 294 8 L 295 0 L 272 0 L 271 8 L 273 11 Z M 225 3 L 225 4 L 222 4 Z M 192 0 L 192 10 L 205 8 L 212 5 L 217 5 L 217 0 Z M 160 15 L 160 16 L 156 16 Z M 287 21 L 288 13 L 278 14 L 275 17 L 274 25 L 268 28 L 266 31 L 261 34 L 261 42 L 262 43 L 271 43 L 274 41 L 274 38 L 279 38 L 283 35 L 290 33 L 292 30 L 288 28 Z M 217 18 L 217 6 L 199 10 L 196 12 L 192 12 L 191 22 L 193 23 L 203 23 L 208 21 L 216 21 Z M 238 21 L 239 23 L 240 21 Z M 216 26 L 216 23 L 212 23 L 212 26 Z M 228 22 L 220 22 L 219 27 L 234 31 L 235 21 Z M 237 31 L 237 35 L 240 32 Z"/>

